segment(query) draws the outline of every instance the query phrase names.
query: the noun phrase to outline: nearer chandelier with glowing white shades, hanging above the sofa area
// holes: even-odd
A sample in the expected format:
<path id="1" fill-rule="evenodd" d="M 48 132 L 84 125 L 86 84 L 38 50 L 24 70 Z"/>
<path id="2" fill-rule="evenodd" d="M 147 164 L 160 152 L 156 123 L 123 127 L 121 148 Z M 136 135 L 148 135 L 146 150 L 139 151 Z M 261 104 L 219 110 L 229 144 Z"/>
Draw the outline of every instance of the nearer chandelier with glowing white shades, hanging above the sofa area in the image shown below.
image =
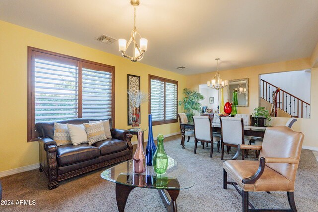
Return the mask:
<path id="1" fill-rule="evenodd" d="M 130 39 L 127 44 L 127 40 L 118 39 L 119 51 L 123 57 L 129 58 L 132 62 L 140 61 L 144 57 L 144 52 L 147 51 L 147 39 L 142 38 L 139 32 L 136 29 L 136 6 L 139 5 L 139 0 L 131 0 L 130 4 L 134 6 L 134 29 L 130 34 Z M 137 35 L 140 37 L 139 45 L 136 42 Z M 133 42 L 133 56 L 126 54 L 126 50 L 129 47 L 130 43 Z"/>

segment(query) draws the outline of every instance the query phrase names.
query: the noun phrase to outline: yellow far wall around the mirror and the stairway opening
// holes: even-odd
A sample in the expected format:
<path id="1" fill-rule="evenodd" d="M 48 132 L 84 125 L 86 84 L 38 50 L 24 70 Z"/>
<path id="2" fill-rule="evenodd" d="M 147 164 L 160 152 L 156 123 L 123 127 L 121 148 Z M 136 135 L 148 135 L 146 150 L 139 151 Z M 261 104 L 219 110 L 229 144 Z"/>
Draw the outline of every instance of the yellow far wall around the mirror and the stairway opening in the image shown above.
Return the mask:
<path id="1" fill-rule="evenodd" d="M 220 75 L 223 80 L 249 78 L 249 107 L 238 108 L 238 113 L 251 114 L 254 108 L 258 107 L 259 104 L 259 74 L 310 69 L 311 61 L 313 60 L 314 59 L 311 60 L 310 58 L 304 58 L 273 64 L 225 70 L 220 71 Z M 187 87 L 198 90 L 198 85 L 206 84 L 209 79 L 213 78 L 214 74 L 215 72 L 210 72 L 188 76 Z M 318 133 L 316 129 L 318 126 L 318 99 L 316 97 L 316 93 L 318 91 L 318 68 L 312 68 L 311 74 L 311 118 L 298 119 L 298 121 L 295 122 L 293 129 L 305 134 L 305 140 L 303 143 L 304 147 L 314 147 L 318 149 Z M 271 125 L 285 125 L 287 120 L 288 118 L 273 117 Z"/>

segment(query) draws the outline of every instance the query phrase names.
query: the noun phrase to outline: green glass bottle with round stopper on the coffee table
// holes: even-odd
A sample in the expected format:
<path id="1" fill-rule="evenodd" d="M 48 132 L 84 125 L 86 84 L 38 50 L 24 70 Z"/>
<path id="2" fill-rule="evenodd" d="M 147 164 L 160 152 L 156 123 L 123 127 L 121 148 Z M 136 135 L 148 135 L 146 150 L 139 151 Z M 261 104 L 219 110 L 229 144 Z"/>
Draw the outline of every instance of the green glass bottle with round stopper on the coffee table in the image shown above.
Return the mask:
<path id="1" fill-rule="evenodd" d="M 164 174 L 168 168 L 168 156 L 163 146 L 164 137 L 162 134 L 157 136 L 157 149 L 153 157 L 153 167 L 157 174 Z"/>

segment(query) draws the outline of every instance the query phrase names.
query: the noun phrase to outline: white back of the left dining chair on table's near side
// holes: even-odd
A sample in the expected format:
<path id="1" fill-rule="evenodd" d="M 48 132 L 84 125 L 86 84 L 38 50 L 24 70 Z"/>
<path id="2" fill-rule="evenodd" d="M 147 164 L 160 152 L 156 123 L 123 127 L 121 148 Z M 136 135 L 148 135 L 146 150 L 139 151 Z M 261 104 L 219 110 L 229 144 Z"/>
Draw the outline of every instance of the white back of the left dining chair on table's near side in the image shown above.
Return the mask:
<path id="1" fill-rule="evenodd" d="M 194 138 L 212 141 L 211 119 L 209 116 L 193 116 Z"/>

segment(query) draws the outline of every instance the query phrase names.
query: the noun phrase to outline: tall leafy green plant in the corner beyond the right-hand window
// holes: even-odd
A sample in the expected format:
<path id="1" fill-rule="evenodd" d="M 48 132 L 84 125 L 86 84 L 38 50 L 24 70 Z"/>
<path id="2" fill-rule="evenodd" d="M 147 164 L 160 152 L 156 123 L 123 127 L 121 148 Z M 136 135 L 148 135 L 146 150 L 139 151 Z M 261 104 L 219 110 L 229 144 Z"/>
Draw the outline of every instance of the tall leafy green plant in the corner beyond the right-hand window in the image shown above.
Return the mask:
<path id="1" fill-rule="evenodd" d="M 197 91 L 192 91 L 189 88 L 183 89 L 183 94 L 185 97 L 181 101 L 179 101 L 179 105 L 183 105 L 184 113 L 188 117 L 188 121 L 192 121 L 192 117 L 194 116 L 194 111 L 201 111 L 200 100 L 204 100 L 204 96 Z"/>

